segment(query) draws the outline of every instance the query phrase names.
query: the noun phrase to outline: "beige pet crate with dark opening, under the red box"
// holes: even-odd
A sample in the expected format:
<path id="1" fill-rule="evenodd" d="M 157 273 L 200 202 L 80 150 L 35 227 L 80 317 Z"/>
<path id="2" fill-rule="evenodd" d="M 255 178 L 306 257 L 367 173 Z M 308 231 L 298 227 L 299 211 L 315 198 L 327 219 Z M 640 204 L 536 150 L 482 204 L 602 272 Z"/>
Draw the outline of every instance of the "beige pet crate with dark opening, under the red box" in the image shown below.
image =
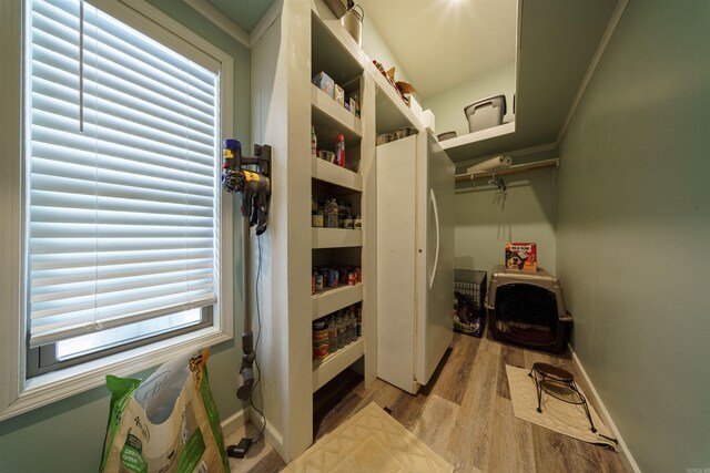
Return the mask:
<path id="1" fill-rule="evenodd" d="M 495 266 L 486 308 L 494 339 L 552 353 L 567 349 L 572 318 L 559 279 L 549 273 Z"/>

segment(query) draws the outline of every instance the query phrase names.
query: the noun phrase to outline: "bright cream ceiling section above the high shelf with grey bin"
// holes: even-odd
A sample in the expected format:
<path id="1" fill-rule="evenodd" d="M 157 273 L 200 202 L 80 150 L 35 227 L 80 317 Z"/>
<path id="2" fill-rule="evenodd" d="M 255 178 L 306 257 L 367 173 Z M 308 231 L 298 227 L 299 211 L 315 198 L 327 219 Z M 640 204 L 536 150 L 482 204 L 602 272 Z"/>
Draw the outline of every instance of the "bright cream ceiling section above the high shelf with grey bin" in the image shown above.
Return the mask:
<path id="1" fill-rule="evenodd" d="M 517 0 L 356 0 L 424 99 L 515 59 Z"/>

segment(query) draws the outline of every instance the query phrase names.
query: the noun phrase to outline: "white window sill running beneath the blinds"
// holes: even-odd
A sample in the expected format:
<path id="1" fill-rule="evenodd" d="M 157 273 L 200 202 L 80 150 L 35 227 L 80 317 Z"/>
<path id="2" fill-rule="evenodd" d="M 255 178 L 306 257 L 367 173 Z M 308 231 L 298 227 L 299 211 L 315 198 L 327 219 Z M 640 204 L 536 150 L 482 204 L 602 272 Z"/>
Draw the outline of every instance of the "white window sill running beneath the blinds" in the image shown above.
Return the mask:
<path id="1" fill-rule="evenodd" d="M 106 374 L 130 377 L 149 368 L 155 368 L 178 353 L 194 352 L 204 347 L 232 340 L 232 335 L 225 331 L 207 327 L 32 378 L 27 381 L 24 390 L 20 392 L 14 402 L 0 410 L 0 421 L 103 385 Z"/>

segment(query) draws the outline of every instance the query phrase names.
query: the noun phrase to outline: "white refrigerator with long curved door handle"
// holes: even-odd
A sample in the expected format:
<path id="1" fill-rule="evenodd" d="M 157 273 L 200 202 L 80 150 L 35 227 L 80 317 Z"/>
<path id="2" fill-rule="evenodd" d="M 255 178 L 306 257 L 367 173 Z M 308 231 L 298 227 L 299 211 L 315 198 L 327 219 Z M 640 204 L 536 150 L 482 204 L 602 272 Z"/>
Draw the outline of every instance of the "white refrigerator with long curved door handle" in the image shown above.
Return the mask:
<path id="1" fill-rule="evenodd" d="M 377 146 L 377 377 L 416 394 L 453 337 L 454 164 L 430 133 Z"/>

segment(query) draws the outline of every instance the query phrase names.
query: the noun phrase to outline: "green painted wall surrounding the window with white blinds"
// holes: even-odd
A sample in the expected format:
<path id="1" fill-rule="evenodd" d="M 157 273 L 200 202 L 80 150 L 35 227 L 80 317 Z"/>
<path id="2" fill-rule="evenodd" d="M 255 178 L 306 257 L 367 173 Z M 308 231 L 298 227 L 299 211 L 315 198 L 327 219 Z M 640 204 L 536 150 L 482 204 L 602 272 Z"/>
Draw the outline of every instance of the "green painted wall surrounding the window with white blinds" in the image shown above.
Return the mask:
<path id="1" fill-rule="evenodd" d="M 250 144 L 250 51 L 211 24 L 182 1 L 150 0 L 181 23 L 234 56 L 234 131 Z M 0 41 L 8 40 L 0 32 Z M 18 60 L 4 58 L 3 61 Z M 237 210 L 239 212 L 239 210 Z M 235 235 L 241 235 L 237 226 Z M 235 287 L 242 287 L 240 239 L 235 238 Z M 241 333 L 242 295 L 234 289 L 237 313 L 235 332 Z M 222 420 L 242 409 L 235 397 L 241 343 L 230 341 L 213 347 L 209 361 L 212 391 Z M 139 373 L 145 378 L 150 371 Z M 0 422 L 0 472 L 90 472 L 97 471 L 109 415 L 105 388 L 54 402 L 27 414 Z"/>

